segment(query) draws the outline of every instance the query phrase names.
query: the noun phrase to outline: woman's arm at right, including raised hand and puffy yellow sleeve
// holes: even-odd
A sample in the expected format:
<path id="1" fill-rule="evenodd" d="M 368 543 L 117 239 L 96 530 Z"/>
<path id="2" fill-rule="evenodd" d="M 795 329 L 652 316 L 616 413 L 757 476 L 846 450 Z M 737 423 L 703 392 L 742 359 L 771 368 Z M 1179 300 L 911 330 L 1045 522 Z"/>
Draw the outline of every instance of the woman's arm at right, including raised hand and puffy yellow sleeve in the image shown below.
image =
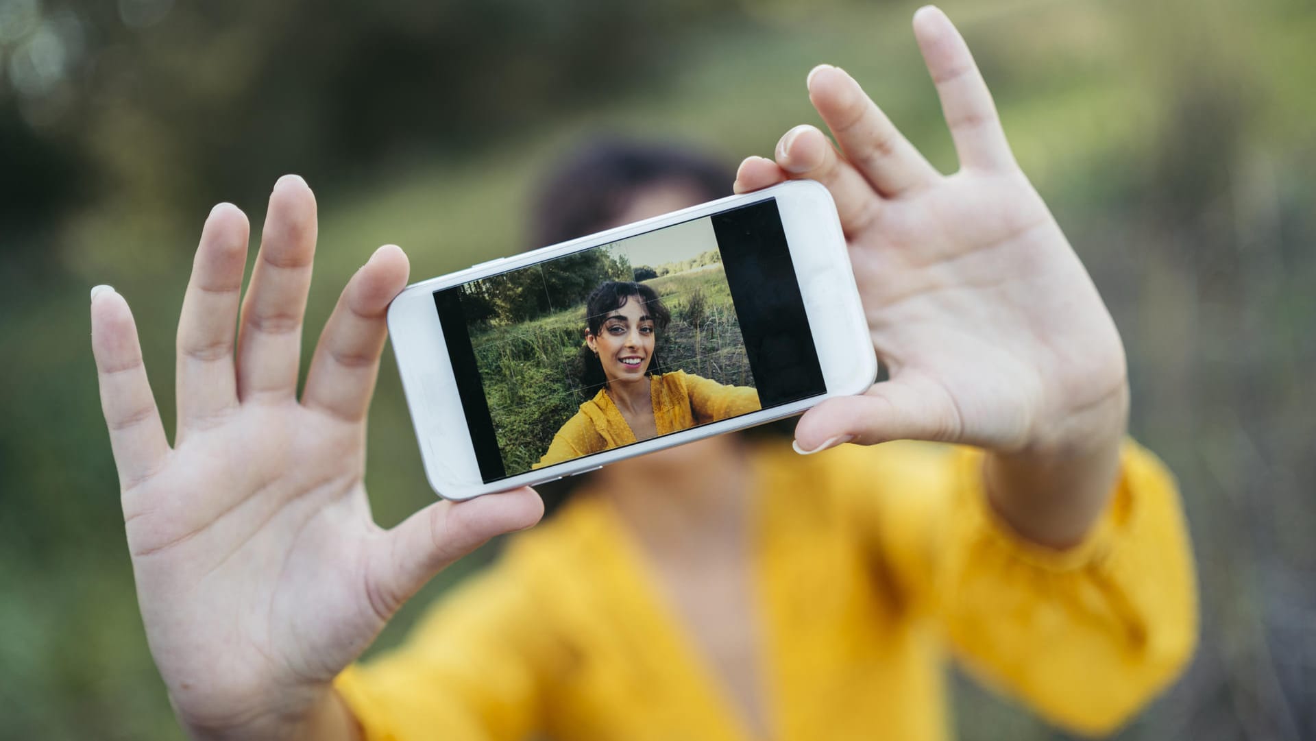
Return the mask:
<path id="1" fill-rule="evenodd" d="M 1136 446 L 1121 458 L 1120 336 L 1015 162 L 967 46 L 936 8 L 920 9 L 913 26 L 957 172 L 933 168 L 854 79 L 820 66 L 809 97 L 840 151 L 797 126 L 775 162 L 746 159 L 737 176 L 740 191 L 787 178 L 832 191 L 891 372 L 805 413 L 796 449 L 900 438 L 975 446 L 932 454 L 903 478 L 854 479 L 883 509 L 867 519 L 880 530 L 875 548 L 971 667 L 1049 717 L 1108 730 L 1195 641 L 1177 492 Z M 874 480 L 899 491 L 873 496 Z"/>

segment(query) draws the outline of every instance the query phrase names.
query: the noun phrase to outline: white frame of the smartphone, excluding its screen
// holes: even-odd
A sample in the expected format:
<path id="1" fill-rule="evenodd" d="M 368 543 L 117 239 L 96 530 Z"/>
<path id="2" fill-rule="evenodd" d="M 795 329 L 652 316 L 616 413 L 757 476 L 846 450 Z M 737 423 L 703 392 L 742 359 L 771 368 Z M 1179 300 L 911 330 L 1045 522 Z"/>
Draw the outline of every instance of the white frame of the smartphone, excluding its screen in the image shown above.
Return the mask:
<path id="1" fill-rule="evenodd" d="M 767 199 L 776 199 L 826 392 L 484 483 L 434 308 L 434 291 Z M 388 332 L 425 475 L 436 494 L 450 500 L 557 480 L 622 458 L 787 417 L 830 396 L 863 392 L 878 369 L 836 205 L 828 190 L 813 180 L 792 180 L 719 199 L 413 283 L 388 307 Z"/>

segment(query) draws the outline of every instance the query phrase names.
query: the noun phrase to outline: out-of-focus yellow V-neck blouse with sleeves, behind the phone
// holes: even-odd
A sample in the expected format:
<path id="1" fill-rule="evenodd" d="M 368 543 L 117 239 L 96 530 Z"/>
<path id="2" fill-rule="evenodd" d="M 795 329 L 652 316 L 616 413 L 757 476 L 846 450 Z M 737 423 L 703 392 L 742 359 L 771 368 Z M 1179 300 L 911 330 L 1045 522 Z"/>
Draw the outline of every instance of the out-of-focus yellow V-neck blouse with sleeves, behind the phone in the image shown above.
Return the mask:
<path id="1" fill-rule="evenodd" d="M 995 517 L 976 450 L 754 455 L 774 738 L 945 738 L 948 653 L 1051 721 L 1101 733 L 1192 652 L 1178 495 L 1132 442 L 1109 508 L 1067 551 Z M 371 741 L 749 738 L 636 544 L 590 492 L 336 686 Z"/>

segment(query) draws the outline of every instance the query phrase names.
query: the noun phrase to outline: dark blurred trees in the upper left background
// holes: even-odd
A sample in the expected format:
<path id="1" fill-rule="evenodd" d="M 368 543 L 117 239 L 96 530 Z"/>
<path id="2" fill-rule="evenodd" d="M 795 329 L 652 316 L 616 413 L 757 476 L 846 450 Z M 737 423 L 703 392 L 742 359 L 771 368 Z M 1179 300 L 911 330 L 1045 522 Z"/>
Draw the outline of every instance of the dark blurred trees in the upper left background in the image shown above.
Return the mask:
<path id="1" fill-rule="evenodd" d="M 49 222 L 79 196 L 195 211 L 288 170 L 325 182 L 467 153 L 651 79 L 721 17 L 744 8 L 0 0 L 0 161 L 38 176 L 0 218 Z"/>

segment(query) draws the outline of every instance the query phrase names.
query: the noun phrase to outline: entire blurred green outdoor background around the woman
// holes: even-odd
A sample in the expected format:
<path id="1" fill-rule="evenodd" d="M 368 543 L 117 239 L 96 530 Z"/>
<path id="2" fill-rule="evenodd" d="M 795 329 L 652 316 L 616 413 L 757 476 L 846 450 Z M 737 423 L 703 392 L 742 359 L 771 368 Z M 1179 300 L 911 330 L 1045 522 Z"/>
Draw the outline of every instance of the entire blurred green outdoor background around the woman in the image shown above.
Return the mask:
<path id="1" fill-rule="evenodd" d="M 1123 737 L 1316 738 L 1316 4 L 945 8 L 1124 333 L 1133 432 L 1183 486 L 1202 649 Z M 0 737 L 182 736 L 133 594 L 92 284 L 132 303 L 171 426 L 174 320 L 200 224 L 232 200 L 259 233 L 283 172 L 320 197 L 318 326 L 380 243 L 403 245 L 417 278 L 528 246 L 538 174 L 591 134 L 690 141 L 728 162 L 770 154 L 817 121 L 804 95 L 817 62 L 851 71 L 953 168 L 913 9 L 0 0 Z M 393 524 L 433 495 L 384 366 L 367 483 Z M 1063 737 L 955 687 L 965 740 Z"/>

